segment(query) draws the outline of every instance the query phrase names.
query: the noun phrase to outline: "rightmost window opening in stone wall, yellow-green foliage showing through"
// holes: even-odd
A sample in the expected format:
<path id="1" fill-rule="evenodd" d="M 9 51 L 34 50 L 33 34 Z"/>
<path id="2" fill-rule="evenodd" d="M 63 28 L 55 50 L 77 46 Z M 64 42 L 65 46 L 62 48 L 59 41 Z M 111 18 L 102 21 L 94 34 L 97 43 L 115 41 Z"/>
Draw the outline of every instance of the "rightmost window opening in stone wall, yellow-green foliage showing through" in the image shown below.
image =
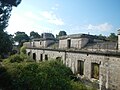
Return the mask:
<path id="1" fill-rule="evenodd" d="M 91 64 L 91 78 L 99 79 L 99 64 Z"/>

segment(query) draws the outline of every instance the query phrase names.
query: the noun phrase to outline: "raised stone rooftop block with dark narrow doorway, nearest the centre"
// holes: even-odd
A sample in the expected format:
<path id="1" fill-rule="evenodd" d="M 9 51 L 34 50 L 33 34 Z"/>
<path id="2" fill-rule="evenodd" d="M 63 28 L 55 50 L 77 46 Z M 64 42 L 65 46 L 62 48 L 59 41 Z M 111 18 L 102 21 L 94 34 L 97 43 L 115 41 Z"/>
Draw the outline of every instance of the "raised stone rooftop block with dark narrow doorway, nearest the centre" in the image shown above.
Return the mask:
<path id="1" fill-rule="evenodd" d="M 59 39 L 59 48 L 78 48 L 81 49 L 84 47 L 88 42 L 90 35 L 85 34 L 73 34 L 68 36 L 62 36 Z"/>

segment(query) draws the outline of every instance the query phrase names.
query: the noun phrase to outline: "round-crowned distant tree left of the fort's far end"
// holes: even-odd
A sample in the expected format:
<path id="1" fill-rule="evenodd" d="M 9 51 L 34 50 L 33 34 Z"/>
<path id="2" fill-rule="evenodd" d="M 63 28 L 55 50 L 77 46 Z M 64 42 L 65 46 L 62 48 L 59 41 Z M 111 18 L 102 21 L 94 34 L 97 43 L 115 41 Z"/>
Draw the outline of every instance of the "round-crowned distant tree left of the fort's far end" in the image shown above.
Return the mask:
<path id="1" fill-rule="evenodd" d="M 24 42 L 29 40 L 30 38 L 25 32 L 18 31 L 15 33 L 14 41 L 18 42 L 20 47 L 23 45 Z"/>

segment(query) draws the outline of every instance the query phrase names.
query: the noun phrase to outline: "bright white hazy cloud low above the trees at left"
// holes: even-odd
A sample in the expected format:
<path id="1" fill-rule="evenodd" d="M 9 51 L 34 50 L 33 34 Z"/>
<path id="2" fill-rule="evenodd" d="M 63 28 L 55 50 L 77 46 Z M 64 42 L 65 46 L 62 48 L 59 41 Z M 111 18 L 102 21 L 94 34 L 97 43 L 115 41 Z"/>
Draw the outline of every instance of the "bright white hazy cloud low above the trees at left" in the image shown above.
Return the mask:
<path id="1" fill-rule="evenodd" d="M 36 21 L 19 14 L 12 14 L 9 20 L 9 26 L 6 28 L 6 31 L 9 34 L 14 34 L 17 31 L 22 31 L 28 35 L 31 31 L 35 31 L 40 34 L 43 32 L 48 32 L 48 30 L 48 27 L 43 26 Z"/>

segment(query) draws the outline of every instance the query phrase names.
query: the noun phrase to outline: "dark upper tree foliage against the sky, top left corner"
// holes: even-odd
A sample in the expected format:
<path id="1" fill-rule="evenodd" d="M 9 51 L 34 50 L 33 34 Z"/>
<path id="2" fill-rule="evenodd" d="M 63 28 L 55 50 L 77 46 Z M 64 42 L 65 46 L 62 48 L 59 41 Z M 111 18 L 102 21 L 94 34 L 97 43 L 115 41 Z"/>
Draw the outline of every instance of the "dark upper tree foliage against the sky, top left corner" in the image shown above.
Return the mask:
<path id="1" fill-rule="evenodd" d="M 11 15 L 12 6 L 18 6 L 21 0 L 0 0 L 0 30 L 5 30 Z"/>

